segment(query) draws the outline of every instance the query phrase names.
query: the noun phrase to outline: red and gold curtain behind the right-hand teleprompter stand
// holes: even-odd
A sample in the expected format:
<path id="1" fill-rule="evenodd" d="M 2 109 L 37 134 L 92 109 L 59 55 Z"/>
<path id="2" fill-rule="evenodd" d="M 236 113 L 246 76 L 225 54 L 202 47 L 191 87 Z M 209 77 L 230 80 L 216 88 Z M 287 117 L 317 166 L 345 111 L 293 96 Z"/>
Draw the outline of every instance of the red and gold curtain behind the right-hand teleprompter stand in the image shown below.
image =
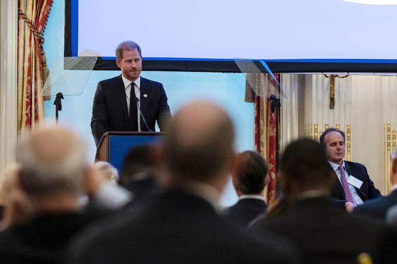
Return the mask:
<path id="1" fill-rule="evenodd" d="M 254 80 L 257 80 L 256 84 L 251 83 L 251 85 L 276 86 L 275 80 L 269 74 L 264 73 L 261 75 L 259 76 L 260 79 L 258 77 L 254 78 Z M 274 74 L 274 76 L 280 82 L 280 74 Z M 250 79 L 253 80 L 253 78 Z M 276 107 L 274 112 L 271 112 L 271 102 L 269 102 L 268 97 L 261 97 L 255 94 L 251 85 L 246 82 L 246 102 L 254 103 L 254 150 L 261 153 L 267 160 L 270 177 L 266 188 L 266 199 L 267 202 L 270 202 L 275 192 L 276 182 L 275 171 L 280 139 L 280 134 L 276 133 L 280 131 L 280 120 L 276 118 L 276 114 L 279 109 Z"/>

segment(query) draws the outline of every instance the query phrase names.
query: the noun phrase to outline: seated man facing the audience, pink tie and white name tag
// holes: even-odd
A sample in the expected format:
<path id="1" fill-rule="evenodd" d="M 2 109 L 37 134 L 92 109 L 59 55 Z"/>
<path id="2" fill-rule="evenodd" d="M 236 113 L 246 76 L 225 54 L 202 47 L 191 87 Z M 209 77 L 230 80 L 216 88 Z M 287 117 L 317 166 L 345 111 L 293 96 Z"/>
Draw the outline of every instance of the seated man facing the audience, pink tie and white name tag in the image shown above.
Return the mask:
<path id="1" fill-rule="evenodd" d="M 370 179 L 367 168 L 357 162 L 343 160 L 345 135 L 336 128 L 328 128 L 320 136 L 328 162 L 337 175 L 331 197 L 337 204 L 343 204 L 346 211 L 363 204 L 366 200 L 382 196 Z"/>

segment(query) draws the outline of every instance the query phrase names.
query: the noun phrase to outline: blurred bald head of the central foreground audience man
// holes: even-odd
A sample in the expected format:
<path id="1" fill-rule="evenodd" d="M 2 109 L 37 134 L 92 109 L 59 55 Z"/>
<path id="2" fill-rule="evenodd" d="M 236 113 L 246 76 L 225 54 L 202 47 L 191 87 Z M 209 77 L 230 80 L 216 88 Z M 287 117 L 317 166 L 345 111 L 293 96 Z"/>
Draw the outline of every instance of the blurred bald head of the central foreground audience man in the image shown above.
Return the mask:
<path id="1" fill-rule="evenodd" d="M 219 180 L 215 185 L 223 188 L 234 158 L 229 115 L 214 103 L 195 101 L 176 112 L 167 131 L 163 154 L 172 178 L 204 183 Z"/>

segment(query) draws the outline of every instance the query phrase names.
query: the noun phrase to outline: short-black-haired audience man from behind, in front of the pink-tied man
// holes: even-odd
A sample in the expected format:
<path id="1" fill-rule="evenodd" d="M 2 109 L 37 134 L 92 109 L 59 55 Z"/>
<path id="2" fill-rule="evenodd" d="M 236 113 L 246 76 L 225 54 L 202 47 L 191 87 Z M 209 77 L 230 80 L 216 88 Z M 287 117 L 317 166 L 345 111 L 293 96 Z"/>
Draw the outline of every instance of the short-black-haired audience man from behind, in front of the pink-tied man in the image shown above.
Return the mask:
<path id="1" fill-rule="evenodd" d="M 280 157 L 277 174 L 276 192 L 286 206 L 247 231 L 284 236 L 303 253 L 303 263 L 352 264 L 363 256 L 371 263 L 395 263 L 391 254 L 396 252 L 395 234 L 385 224 L 335 208 L 330 199 L 335 177 L 318 142 L 304 138 L 291 142 Z"/>

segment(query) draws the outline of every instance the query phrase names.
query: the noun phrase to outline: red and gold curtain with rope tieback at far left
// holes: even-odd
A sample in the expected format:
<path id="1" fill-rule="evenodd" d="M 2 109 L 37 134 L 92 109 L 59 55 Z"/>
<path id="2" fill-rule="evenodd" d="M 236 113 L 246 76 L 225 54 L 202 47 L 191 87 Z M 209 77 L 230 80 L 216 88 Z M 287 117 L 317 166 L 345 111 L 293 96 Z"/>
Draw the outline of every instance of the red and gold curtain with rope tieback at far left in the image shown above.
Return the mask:
<path id="1" fill-rule="evenodd" d="M 43 32 L 52 3 L 53 0 L 18 0 L 17 125 L 22 133 L 44 119 L 42 89 L 48 71 Z"/>

